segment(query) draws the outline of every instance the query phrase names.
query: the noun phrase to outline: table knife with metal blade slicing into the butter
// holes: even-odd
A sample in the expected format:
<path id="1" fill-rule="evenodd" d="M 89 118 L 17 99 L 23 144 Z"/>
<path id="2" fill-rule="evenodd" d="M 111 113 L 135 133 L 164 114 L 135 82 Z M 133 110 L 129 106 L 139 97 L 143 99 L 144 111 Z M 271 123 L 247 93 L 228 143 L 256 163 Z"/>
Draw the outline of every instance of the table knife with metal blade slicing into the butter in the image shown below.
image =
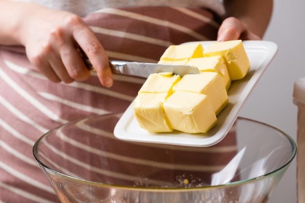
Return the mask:
<path id="1" fill-rule="evenodd" d="M 89 70 L 95 70 L 89 59 L 84 59 Z M 109 61 L 110 67 L 115 74 L 126 74 L 147 78 L 152 73 L 172 73 L 183 77 L 185 74 L 199 74 L 195 66 L 188 65 L 168 65 L 157 63 L 141 63 L 128 61 Z"/>

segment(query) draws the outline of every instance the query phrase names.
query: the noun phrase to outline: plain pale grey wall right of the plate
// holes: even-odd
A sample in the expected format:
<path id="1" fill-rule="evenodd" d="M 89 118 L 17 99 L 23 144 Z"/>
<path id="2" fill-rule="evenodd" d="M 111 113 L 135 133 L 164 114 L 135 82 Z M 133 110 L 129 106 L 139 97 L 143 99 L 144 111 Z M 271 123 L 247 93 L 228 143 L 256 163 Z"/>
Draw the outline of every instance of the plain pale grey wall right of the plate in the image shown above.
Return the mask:
<path id="1" fill-rule="evenodd" d="M 275 42 L 278 53 L 240 114 L 282 129 L 295 141 L 297 106 L 293 104 L 292 92 L 295 80 L 305 77 L 304 9 L 304 0 L 274 0 L 273 16 L 264 40 Z M 296 159 L 268 203 L 297 203 Z"/>

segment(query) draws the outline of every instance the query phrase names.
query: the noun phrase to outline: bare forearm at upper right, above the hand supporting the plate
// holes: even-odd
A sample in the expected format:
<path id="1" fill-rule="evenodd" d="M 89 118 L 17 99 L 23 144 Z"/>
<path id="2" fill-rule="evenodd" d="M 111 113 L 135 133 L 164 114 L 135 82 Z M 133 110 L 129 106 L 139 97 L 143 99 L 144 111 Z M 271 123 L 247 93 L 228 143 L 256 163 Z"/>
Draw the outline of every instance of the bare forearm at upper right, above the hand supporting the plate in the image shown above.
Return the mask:
<path id="1" fill-rule="evenodd" d="M 254 34 L 264 36 L 272 15 L 272 0 L 224 0 L 224 5 L 227 18 L 238 18 Z"/>

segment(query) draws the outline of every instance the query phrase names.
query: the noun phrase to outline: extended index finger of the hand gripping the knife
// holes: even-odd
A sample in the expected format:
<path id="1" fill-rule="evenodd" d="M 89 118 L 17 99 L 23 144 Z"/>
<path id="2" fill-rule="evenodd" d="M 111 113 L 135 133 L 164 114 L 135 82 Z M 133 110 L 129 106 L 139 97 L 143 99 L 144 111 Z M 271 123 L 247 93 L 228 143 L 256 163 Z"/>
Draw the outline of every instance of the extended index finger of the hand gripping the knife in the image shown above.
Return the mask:
<path id="1" fill-rule="evenodd" d="M 83 52 L 90 59 L 101 84 L 105 87 L 111 87 L 113 85 L 113 76 L 109 66 L 108 56 L 94 33 L 88 29 L 75 31 L 73 36 Z"/>

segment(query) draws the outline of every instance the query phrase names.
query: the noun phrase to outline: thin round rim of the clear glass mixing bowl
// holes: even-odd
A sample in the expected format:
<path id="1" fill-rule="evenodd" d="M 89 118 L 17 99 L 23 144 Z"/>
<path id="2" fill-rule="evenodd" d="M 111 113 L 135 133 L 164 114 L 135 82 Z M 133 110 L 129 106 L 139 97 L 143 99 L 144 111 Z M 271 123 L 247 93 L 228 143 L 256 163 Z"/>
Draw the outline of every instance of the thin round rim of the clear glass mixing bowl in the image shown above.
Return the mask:
<path id="1" fill-rule="evenodd" d="M 250 182 L 254 182 L 254 181 L 257 181 L 259 179 L 264 179 L 264 178 L 267 178 L 269 176 L 271 176 L 272 174 L 275 174 L 275 173 L 278 173 L 284 169 L 287 169 L 288 166 L 291 164 L 291 162 L 293 161 L 293 159 L 295 158 L 296 154 L 297 154 L 297 145 L 295 143 L 295 141 L 293 140 L 293 138 L 288 135 L 286 132 L 284 132 L 283 130 L 281 129 L 278 129 L 274 126 L 271 126 L 269 124 L 266 124 L 266 123 L 263 123 L 261 121 L 257 121 L 257 120 L 254 120 L 254 119 L 250 119 L 250 118 L 246 118 L 246 117 L 241 117 L 241 116 L 238 116 L 236 120 L 246 120 L 246 121 L 249 121 L 249 122 L 254 122 L 254 123 L 257 123 L 257 124 L 260 124 L 260 125 L 263 125 L 263 126 L 266 126 L 268 128 L 271 128 L 271 129 L 274 129 L 274 130 L 277 130 L 278 132 L 282 133 L 284 135 L 284 137 L 286 137 L 286 139 L 289 141 L 290 145 L 291 145 L 291 148 L 292 148 L 292 151 L 291 151 L 291 155 L 290 155 L 290 158 L 286 161 L 285 164 L 283 164 L 281 167 L 273 170 L 273 171 L 270 171 L 264 175 L 261 175 L 261 176 L 258 176 L 258 177 L 254 177 L 254 178 L 250 178 L 250 179 L 245 179 L 245 180 L 241 180 L 241 181 L 234 181 L 234 182 L 230 182 L 230 183 L 226 183 L 224 185 L 206 185 L 206 186 L 194 186 L 194 187 L 169 187 L 169 188 L 166 188 L 166 187 L 144 187 L 144 186 L 126 186 L 126 185 L 112 185 L 112 184 L 104 184 L 104 183 L 99 183 L 99 182 L 95 182 L 95 181 L 89 181 L 89 180 L 85 180 L 85 179 L 81 179 L 81 178 L 76 178 L 76 177 L 73 177 L 71 175 L 67 175 L 65 173 L 62 173 L 62 172 L 58 172 L 57 170 L 45 165 L 43 162 L 40 161 L 40 159 L 38 158 L 38 155 L 36 154 L 36 151 L 37 151 L 37 148 L 38 148 L 38 145 L 40 143 L 40 141 L 49 134 L 49 132 L 51 131 L 54 131 L 56 129 L 59 129 L 59 128 L 62 128 L 64 126 L 67 126 L 69 124 L 72 124 L 72 123 L 76 123 L 76 122 L 79 122 L 81 120 L 86 120 L 86 119 L 93 119 L 93 118 L 96 118 L 96 117 L 102 117 L 102 116 L 109 116 L 109 114 L 107 115 L 97 115 L 97 116 L 91 116 L 91 117 L 87 117 L 87 118 L 81 118 L 81 119 L 77 119 L 75 121 L 71 121 L 71 122 L 68 122 L 66 124 L 62 124 L 54 129 L 50 129 L 49 131 L 47 131 L 46 133 L 44 133 L 42 136 L 40 136 L 38 138 L 38 140 L 35 142 L 34 146 L 33 146 L 33 155 L 36 159 L 36 161 L 38 162 L 39 166 L 40 167 L 44 167 L 60 176 L 63 176 L 65 178 L 68 178 L 68 179 L 72 179 L 74 181 L 77 181 L 77 182 L 86 182 L 86 184 L 89 184 L 89 185 L 102 185 L 103 187 L 111 187 L 111 188 L 121 188 L 121 189 L 128 189 L 128 190 L 138 190 L 138 191 L 157 191 L 157 190 L 162 190 L 162 191 L 190 191 L 190 190 L 202 190 L 202 189 L 211 189 L 211 188 L 215 188 L 215 187 L 227 187 L 227 186 L 234 186 L 234 185 L 240 185 L 240 184 L 246 184 L 246 183 L 250 183 Z"/>

